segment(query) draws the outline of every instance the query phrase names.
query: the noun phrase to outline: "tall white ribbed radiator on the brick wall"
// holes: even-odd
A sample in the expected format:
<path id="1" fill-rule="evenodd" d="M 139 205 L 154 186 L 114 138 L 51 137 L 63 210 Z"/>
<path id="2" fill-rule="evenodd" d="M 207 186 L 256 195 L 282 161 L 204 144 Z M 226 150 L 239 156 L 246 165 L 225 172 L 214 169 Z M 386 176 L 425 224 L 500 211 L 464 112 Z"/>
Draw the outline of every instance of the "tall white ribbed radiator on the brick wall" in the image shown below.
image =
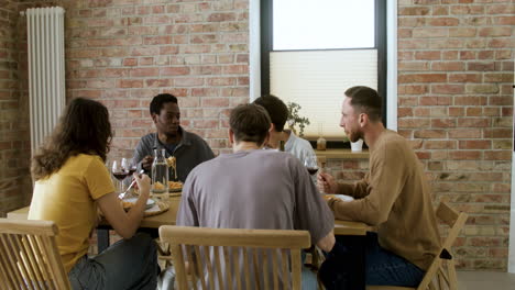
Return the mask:
<path id="1" fill-rule="evenodd" d="M 61 7 L 26 10 L 32 155 L 65 107 L 64 12 Z"/>

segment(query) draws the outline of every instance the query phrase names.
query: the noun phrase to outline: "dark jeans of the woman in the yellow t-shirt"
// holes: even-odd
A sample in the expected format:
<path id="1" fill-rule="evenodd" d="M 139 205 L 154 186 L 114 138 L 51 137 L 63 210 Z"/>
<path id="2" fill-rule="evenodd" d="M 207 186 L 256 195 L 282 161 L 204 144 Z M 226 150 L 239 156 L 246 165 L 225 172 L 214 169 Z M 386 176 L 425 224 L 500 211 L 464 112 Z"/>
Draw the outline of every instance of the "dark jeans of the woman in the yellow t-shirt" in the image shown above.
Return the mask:
<path id="1" fill-rule="evenodd" d="M 154 241 L 138 233 L 95 258 L 81 257 L 68 272 L 68 279 L 74 290 L 155 289 L 158 271 Z"/>

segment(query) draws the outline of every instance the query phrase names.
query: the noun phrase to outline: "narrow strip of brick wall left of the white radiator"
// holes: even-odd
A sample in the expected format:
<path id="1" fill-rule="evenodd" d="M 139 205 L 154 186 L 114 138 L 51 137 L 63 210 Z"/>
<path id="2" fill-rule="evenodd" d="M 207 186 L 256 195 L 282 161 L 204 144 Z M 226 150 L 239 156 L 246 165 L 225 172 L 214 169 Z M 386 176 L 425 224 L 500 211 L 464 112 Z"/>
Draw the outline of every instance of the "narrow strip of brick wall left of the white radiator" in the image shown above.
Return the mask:
<path id="1" fill-rule="evenodd" d="M 0 216 L 28 202 L 31 191 L 28 103 L 20 93 L 18 8 L 0 5 Z M 29 146 L 30 147 L 30 146 Z M 29 154 L 29 155 L 26 155 Z"/>

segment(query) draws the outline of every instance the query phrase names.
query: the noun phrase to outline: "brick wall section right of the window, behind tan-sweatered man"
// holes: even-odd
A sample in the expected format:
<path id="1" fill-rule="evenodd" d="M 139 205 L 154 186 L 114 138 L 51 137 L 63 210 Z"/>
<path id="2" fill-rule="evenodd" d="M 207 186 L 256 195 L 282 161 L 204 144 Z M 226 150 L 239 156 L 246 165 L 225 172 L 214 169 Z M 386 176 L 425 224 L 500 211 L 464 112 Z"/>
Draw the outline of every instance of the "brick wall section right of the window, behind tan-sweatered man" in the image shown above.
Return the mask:
<path id="1" fill-rule="evenodd" d="M 398 132 L 436 200 L 470 213 L 460 267 L 505 270 L 515 5 L 490 2 L 398 0 Z"/>

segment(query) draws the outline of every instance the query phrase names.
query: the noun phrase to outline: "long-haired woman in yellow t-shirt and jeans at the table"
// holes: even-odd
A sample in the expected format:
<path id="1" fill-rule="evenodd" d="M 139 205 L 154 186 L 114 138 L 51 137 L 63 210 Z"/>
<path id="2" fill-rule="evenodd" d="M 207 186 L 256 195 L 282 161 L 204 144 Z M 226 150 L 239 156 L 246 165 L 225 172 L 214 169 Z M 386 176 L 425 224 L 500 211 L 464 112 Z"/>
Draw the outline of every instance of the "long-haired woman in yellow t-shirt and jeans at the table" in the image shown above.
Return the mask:
<path id="1" fill-rule="evenodd" d="M 29 219 L 57 224 L 57 246 L 74 289 L 155 289 L 155 244 L 149 235 L 135 234 L 149 199 L 150 178 L 134 175 L 141 194 L 125 213 L 105 166 L 111 138 L 103 104 L 72 100 L 32 160 L 35 186 Z M 89 258 L 97 204 L 124 239 Z"/>

